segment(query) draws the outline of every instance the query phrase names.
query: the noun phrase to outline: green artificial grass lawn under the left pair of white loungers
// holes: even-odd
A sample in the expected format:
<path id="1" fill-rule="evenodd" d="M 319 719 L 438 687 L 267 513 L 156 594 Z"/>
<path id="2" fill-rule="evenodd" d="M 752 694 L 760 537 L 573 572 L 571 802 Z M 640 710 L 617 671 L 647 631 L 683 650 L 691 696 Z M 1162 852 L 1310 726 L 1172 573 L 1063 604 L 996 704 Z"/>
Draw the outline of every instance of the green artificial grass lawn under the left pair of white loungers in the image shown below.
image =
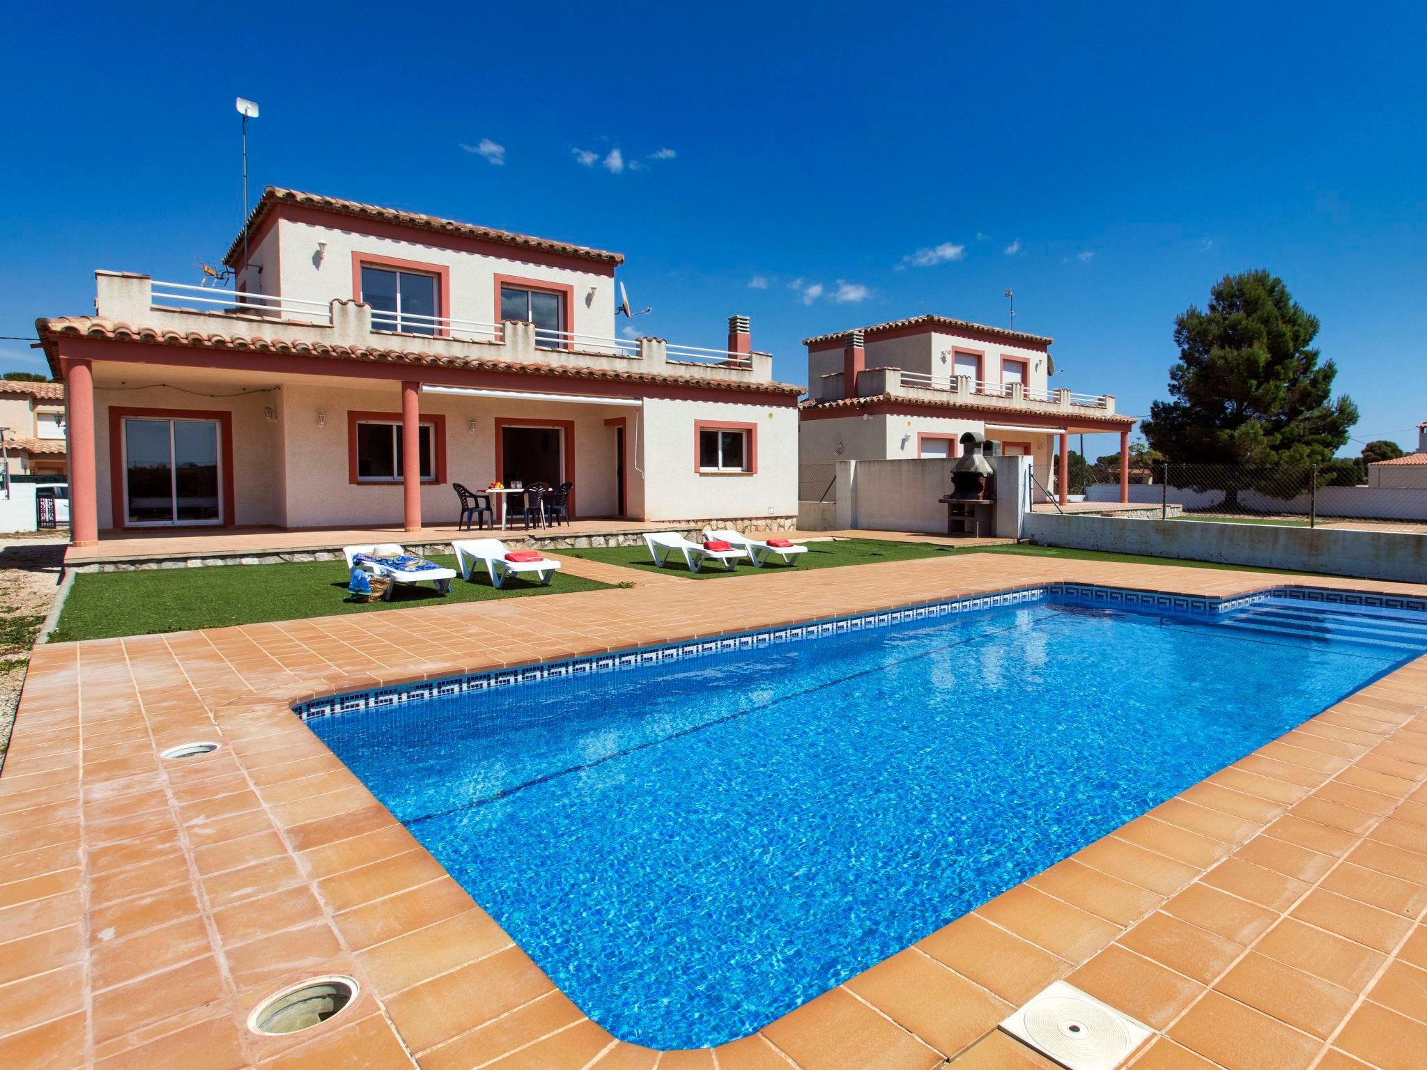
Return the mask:
<path id="1" fill-rule="evenodd" d="M 455 568 L 454 556 L 434 556 Z M 595 591 L 609 586 L 582 576 L 557 572 L 549 586 L 511 578 L 497 591 L 484 572 L 468 582 L 451 581 L 442 598 L 430 584 L 401 585 L 390 602 L 348 602 L 348 574 L 341 561 L 283 565 L 215 565 L 146 572 L 83 572 L 74 578 L 50 642 L 108 639 L 120 635 L 180 632 L 190 628 L 264 621 L 297 621 L 334 613 L 375 613 L 420 605 L 481 602 L 494 598 Z"/>

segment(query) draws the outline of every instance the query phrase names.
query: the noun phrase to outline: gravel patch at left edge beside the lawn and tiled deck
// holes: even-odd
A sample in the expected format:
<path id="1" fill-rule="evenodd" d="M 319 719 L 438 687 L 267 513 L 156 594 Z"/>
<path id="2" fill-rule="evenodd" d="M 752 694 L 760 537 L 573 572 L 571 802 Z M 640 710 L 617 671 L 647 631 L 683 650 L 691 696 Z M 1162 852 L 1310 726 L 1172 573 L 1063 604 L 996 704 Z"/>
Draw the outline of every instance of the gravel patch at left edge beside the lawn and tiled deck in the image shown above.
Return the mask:
<path id="1" fill-rule="evenodd" d="M 30 646 L 54 601 L 67 542 L 68 532 L 53 531 L 0 539 L 0 763 L 10 743 Z"/>

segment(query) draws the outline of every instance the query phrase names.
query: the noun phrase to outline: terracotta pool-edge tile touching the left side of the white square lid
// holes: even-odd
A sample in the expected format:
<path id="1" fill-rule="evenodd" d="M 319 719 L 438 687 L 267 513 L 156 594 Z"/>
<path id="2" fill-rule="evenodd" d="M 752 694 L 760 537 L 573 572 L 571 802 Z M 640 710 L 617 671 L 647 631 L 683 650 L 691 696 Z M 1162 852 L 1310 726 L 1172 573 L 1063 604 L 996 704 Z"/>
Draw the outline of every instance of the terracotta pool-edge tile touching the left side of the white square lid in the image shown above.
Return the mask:
<path id="1" fill-rule="evenodd" d="M 945 1056 L 995 1029 L 1013 1009 L 915 949 L 885 959 L 843 987 Z"/>

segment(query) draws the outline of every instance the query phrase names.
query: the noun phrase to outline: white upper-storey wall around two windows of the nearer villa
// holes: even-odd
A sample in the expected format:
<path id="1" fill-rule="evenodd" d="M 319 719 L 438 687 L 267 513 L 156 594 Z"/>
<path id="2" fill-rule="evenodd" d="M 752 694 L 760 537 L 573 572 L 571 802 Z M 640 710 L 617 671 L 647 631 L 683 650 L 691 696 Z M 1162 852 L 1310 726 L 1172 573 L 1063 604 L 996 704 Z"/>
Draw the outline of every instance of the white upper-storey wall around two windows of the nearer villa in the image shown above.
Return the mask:
<path id="1" fill-rule="evenodd" d="M 354 223 L 357 221 L 354 220 Z M 277 257 L 268 250 L 274 234 L 278 235 Z M 417 235 L 421 231 L 412 231 L 412 234 Z M 320 260 L 317 257 L 318 241 L 327 243 L 327 251 Z M 420 241 L 372 237 L 360 230 L 314 227 L 293 220 L 280 220 L 270 231 L 270 238 L 264 241 L 263 248 L 264 275 L 273 271 L 271 263 L 274 260 L 281 261 L 278 275 L 283 297 L 304 301 L 351 298 L 355 292 L 352 253 L 371 253 L 380 257 L 395 257 L 450 268 L 451 308 L 441 310 L 444 317 L 484 324 L 499 322 L 499 308 L 495 304 L 495 277 L 518 275 L 574 287 L 571 300 L 574 324 L 567 324 L 567 331 L 601 338 L 611 338 L 615 331 L 615 280 L 608 264 L 591 261 L 589 271 L 575 271 L 522 261 L 521 251 L 515 247 L 509 248 L 509 257 L 489 257 Z M 251 258 L 257 260 L 257 257 Z M 601 270 L 605 274 L 601 274 Z M 591 287 L 594 287 L 594 295 L 589 292 Z M 275 290 L 267 292 L 275 292 Z"/>

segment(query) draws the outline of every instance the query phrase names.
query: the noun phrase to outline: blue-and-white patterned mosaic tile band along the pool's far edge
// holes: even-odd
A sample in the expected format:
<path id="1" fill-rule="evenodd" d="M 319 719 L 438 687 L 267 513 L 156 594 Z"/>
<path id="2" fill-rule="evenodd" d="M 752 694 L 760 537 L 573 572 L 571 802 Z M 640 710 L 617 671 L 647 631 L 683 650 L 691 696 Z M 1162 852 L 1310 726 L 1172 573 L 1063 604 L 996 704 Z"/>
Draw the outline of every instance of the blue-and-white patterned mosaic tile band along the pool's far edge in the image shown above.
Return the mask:
<path id="1" fill-rule="evenodd" d="M 325 718 L 335 713 L 354 713 L 372 706 L 398 706 L 407 702 L 464 695 L 468 692 L 488 691 L 491 688 L 511 688 L 531 681 L 616 672 L 619 669 L 629 669 L 641 665 L 656 665 L 659 662 L 678 661 L 682 658 L 702 658 L 705 655 L 723 653 L 728 651 L 751 651 L 761 646 L 798 642 L 799 639 L 816 639 L 826 635 L 841 635 L 843 632 L 860 632 L 869 628 L 886 628 L 903 621 L 926 621 L 929 618 L 948 616 L 950 613 L 973 613 L 982 609 L 1040 602 L 1052 596 L 1106 608 L 1139 608 L 1206 616 L 1241 609 L 1243 606 L 1253 605 L 1254 602 L 1260 602 L 1269 596 L 1306 598 L 1307 601 L 1337 602 L 1341 605 L 1368 605 L 1394 609 L 1420 608 L 1427 612 L 1427 599 L 1364 595 L 1347 591 L 1271 588 L 1269 591 L 1257 591 L 1237 598 L 1216 599 L 1166 595 L 1153 591 L 1129 591 L 1124 588 L 1095 586 L 1092 584 L 1043 584 L 1039 586 L 1000 591 L 993 595 L 976 595 L 969 598 L 948 599 L 945 602 L 908 606 L 905 609 L 860 613 L 856 616 L 818 621 L 806 625 L 789 625 L 786 628 L 773 628 L 761 632 L 722 635 L 716 639 L 694 639 L 689 642 L 649 646 L 638 651 L 596 655 L 591 658 L 574 658 L 569 661 L 548 662 L 544 665 L 528 665 L 519 669 L 495 669 L 491 672 L 467 673 L 440 681 L 424 681 L 421 683 L 404 683 L 392 688 L 372 688 L 370 691 L 358 691 L 348 695 L 330 695 L 298 703 L 293 708 L 293 712 L 304 720 L 311 720 L 314 718 Z"/>

